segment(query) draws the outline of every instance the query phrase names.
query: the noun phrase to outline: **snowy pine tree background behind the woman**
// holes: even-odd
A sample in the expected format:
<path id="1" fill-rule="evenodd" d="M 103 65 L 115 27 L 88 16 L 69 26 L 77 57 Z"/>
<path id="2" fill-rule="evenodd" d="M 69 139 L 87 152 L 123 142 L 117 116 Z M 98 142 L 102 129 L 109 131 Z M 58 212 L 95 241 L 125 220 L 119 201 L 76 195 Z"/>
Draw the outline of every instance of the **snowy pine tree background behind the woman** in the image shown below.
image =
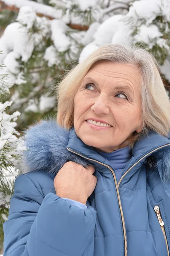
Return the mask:
<path id="1" fill-rule="evenodd" d="M 26 172 L 23 131 L 56 115 L 65 71 L 103 45 L 136 44 L 156 57 L 168 92 L 170 0 L 0 0 L 0 35 L 1 227 Z"/>

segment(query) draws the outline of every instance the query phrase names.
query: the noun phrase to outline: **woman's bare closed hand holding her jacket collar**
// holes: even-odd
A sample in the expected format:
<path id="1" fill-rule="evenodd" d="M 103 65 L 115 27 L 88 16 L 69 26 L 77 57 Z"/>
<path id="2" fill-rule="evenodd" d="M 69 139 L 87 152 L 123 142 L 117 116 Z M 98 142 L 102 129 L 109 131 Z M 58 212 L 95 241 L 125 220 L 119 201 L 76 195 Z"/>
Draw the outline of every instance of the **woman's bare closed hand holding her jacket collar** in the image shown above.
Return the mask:
<path id="1" fill-rule="evenodd" d="M 54 179 L 56 194 L 86 204 L 97 184 L 94 172 L 92 166 L 84 168 L 81 164 L 66 162 Z"/>

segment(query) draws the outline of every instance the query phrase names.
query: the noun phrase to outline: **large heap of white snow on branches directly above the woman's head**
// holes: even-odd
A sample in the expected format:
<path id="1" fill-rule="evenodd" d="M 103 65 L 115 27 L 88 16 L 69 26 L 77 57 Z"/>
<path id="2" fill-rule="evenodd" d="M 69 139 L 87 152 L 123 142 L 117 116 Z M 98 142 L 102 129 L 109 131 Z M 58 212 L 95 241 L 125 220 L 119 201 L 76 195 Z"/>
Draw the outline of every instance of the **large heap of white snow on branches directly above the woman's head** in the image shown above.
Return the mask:
<path id="1" fill-rule="evenodd" d="M 114 3 L 117 4 L 117 3 Z M 114 4 L 104 9 L 102 12 L 107 13 L 114 9 Z M 121 2 L 120 4 L 125 4 Z M 146 8 L 147 6 L 147 8 Z M 152 49 L 154 45 L 164 47 L 169 50 L 168 41 L 162 38 L 158 26 L 153 24 L 153 20 L 158 15 L 164 15 L 165 20 L 170 19 L 170 0 L 139 0 L 131 3 L 129 12 L 125 15 L 113 15 L 98 26 L 95 30 L 89 27 L 82 43 L 85 45 L 79 57 L 79 62 L 83 61 L 90 53 L 100 46 L 106 44 L 132 44 L 144 43 L 148 49 Z M 134 33 L 135 28 L 137 32 Z M 90 31 L 90 29 L 92 31 Z M 170 29 L 167 26 L 167 34 Z M 88 35 L 89 33 L 89 35 Z"/>

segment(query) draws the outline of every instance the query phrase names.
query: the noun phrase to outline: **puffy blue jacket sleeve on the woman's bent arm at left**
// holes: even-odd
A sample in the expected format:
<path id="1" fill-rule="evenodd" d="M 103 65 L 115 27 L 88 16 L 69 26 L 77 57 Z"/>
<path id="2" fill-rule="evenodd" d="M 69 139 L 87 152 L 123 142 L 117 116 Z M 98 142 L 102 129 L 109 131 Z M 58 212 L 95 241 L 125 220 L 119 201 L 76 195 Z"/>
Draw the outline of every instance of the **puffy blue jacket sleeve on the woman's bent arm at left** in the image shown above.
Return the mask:
<path id="1" fill-rule="evenodd" d="M 94 243 L 95 222 L 91 206 L 81 209 L 52 192 L 43 198 L 32 180 L 20 175 L 3 224 L 3 256 L 84 255 Z"/>

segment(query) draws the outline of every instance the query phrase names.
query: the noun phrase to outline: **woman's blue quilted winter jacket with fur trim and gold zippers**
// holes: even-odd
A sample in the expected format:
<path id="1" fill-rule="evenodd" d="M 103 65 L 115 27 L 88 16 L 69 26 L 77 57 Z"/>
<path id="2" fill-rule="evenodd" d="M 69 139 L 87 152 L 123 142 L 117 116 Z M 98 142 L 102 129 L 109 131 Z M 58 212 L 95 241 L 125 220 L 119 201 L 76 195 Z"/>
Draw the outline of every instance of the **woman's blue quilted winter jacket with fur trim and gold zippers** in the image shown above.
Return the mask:
<path id="1" fill-rule="evenodd" d="M 3 256 L 167 256 L 170 250 L 170 140 L 150 131 L 138 140 L 117 184 L 93 147 L 42 121 L 26 131 L 29 172 L 14 184 L 4 223 Z M 87 209 L 56 195 L 64 163 L 95 166 Z"/>

